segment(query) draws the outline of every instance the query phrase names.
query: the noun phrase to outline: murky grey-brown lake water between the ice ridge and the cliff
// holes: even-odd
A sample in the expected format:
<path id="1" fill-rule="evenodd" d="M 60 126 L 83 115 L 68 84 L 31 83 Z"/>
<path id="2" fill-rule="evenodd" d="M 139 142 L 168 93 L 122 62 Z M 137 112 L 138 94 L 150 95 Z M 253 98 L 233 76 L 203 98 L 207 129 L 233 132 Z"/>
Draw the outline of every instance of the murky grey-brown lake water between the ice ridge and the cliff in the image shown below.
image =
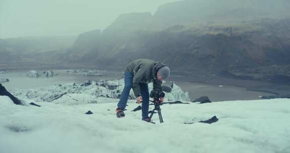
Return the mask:
<path id="1" fill-rule="evenodd" d="M 41 72 L 41 70 L 38 70 Z M 37 87 L 48 87 L 58 84 L 67 83 L 84 83 L 85 81 L 100 81 L 100 80 L 115 80 L 123 77 L 123 73 L 120 71 L 106 71 L 106 76 L 103 77 L 86 77 L 83 75 L 75 75 L 65 72 L 65 70 L 53 70 L 58 75 L 54 77 L 39 77 L 30 78 L 25 77 L 24 74 L 28 70 L 15 70 L 8 73 L 0 74 L 0 78 L 7 78 L 10 80 L 8 83 L 2 83 L 6 89 L 30 89 Z M 247 91 L 245 88 L 232 87 L 232 86 L 219 86 L 208 84 L 191 83 L 186 77 L 171 76 L 169 81 L 165 84 L 170 86 L 170 81 L 173 81 L 183 91 L 188 92 L 191 99 L 195 99 L 201 96 L 208 96 L 211 101 L 227 101 L 227 100 L 255 100 L 260 99 L 259 96 L 270 96 L 272 94 Z"/>

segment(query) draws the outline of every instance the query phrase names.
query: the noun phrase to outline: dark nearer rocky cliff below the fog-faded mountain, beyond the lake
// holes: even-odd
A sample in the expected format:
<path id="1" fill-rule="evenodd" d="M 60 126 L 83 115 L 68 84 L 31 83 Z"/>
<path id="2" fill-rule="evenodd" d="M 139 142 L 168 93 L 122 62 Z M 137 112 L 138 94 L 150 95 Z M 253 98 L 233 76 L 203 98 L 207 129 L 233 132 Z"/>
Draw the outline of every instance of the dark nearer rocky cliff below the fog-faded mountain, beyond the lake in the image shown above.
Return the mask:
<path id="1" fill-rule="evenodd" d="M 290 20 L 175 25 L 164 30 L 98 34 L 86 49 L 66 58 L 85 63 L 125 64 L 151 58 L 187 70 L 225 70 L 289 64 Z M 79 54 L 82 54 L 79 56 Z"/>

